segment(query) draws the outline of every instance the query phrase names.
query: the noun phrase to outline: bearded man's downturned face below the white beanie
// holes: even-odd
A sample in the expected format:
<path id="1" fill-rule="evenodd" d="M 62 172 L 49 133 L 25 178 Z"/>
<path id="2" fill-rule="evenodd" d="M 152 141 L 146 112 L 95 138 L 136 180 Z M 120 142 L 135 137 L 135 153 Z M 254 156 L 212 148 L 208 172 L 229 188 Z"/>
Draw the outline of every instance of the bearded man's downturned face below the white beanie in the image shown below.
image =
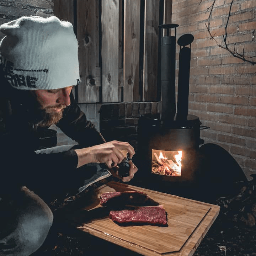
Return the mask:
<path id="1" fill-rule="evenodd" d="M 33 90 L 39 109 L 43 112 L 41 126 L 50 126 L 62 118 L 65 107 L 70 105 L 69 95 L 73 86 L 54 90 Z"/>

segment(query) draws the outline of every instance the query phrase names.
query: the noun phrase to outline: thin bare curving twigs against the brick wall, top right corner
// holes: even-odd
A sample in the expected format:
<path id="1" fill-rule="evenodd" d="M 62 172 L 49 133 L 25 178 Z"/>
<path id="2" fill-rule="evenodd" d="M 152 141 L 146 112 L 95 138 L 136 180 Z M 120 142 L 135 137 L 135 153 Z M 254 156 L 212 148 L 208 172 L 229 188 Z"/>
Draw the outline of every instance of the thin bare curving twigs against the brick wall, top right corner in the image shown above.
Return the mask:
<path id="1" fill-rule="evenodd" d="M 209 7 L 207 8 L 207 11 L 206 11 L 206 12 L 208 12 L 208 11 L 210 10 L 209 17 L 208 17 L 208 25 L 205 24 L 205 25 L 206 25 L 206 28 L 207 28 L 207 30 L 208 30 L 208 32 L 209 32 L 209 34 L 210 34 L 210 38 L 211 38 L 220 48 L 227 50 L 227 51 L 230 52 L 235 58 L 241 59 L 241 60 L 243 60 L 244 62 L 249 62 L 249 63 L 251 63 L 252 65 L 256 64 L 256 62 L 254 62 L 254 61 L 252 60 L 252 58 L 254 58 L 254 57 L 256 57 L 256 56 L 252 56 L 252 57 L 246 56 L 246 55 L 244 54 L 244 49 L 243 49 L 243 52 L 242 52 L 242 53 L 239 53 L 239 52 L 236 50 L 236 43 L 234 43 L 234 50 L 231 50 L 231 49 L 229 48 L 228 44 L 227 44 L 227 37 L 228 37 L 227 28 L 228 28 L 229 18 L 230 18 L 230 16 L 231 16 L 231 7 L 232 7 L 232 5 L 233 5 L 234 0 L 232 0 L 231 3 L 230 3 L 228 19 L 227 19 L 227 22 L 226 22 L 226 25 L 225 25 L 225 36 L 224 36 L 224 34 L 222 35 L 222 36 L 223 36 L 224 43 L 225 43 L 225 46 L 221 45 L 221 44 L 214 38 L 215 34 L 212 35 L 212 33 L 211 33 L 211 31 L 210 31 L 210 17 L 211 17 L 211 15 L 212 15 L 212 11 L 213 11 L 215 2 L 216 2 L 216 0 L 213 0 L 212 5 L 209 6 Z M 199 4 L 201 4 L 201 1 L 200 1 Z"/>

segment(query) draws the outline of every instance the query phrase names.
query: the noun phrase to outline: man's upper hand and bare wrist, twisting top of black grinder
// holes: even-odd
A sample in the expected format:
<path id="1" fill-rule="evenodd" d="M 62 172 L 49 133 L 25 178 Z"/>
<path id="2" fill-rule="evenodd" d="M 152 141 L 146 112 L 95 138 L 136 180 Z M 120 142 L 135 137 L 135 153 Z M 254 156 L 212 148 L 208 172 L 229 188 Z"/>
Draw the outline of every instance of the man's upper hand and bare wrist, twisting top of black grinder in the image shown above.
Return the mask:
<path id="1" fill-rule="evenodd" d="M 75 152 L 78 155 L 77 167 L 95 162 L 98 164 L 105 163 L 109 169 L 116 167 L 127 153 L 130 154 L 130 158 L 135 154 L 134 148 L 128 142 L 119 142 L 117 140 L 91 146 L 90 148 L 75 149 Z M 128 180 L 128 177 L 125 180 Z"/>

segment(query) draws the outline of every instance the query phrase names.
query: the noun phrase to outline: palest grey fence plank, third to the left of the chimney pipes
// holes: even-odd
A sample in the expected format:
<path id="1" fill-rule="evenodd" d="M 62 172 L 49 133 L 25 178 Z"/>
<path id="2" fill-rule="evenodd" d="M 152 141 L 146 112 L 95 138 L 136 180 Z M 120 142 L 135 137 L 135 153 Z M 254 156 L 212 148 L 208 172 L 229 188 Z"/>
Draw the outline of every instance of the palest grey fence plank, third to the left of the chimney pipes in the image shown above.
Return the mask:
<path id="1" fill-rule="evenodd" d="M 119 0 L 102 1 L 102 102 L 118 101 Z"/>

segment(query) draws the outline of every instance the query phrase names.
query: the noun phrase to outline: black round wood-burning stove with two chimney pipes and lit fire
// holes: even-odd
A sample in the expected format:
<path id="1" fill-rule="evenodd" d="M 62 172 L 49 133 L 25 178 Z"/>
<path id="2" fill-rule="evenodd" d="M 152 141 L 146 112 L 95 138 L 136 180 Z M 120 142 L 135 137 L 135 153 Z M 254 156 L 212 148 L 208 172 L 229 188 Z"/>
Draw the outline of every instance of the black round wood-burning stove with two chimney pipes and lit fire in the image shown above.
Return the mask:
<path id="1" fill-rule="evenodd" d="M 143 115 L 138 124 L 138 178 L 151 188 L 185 192 L 195 186 L 200 171 L 199 145 L 201 122 L 188 114 L 190 48 L 193 36 L 183 35 L 180 50 L 178 109 L 175 96 L 176 24 L 161 25 L 161 94 L 162 112 L 158 116 Z M 175 35 L 169 30 L 175 28 Z M 185 67 L 185 68 L 183 68 Z M 184 77 L 186 79 L 184 79 Z M 172 190 L 168 190 L 168 187 Z"/>

